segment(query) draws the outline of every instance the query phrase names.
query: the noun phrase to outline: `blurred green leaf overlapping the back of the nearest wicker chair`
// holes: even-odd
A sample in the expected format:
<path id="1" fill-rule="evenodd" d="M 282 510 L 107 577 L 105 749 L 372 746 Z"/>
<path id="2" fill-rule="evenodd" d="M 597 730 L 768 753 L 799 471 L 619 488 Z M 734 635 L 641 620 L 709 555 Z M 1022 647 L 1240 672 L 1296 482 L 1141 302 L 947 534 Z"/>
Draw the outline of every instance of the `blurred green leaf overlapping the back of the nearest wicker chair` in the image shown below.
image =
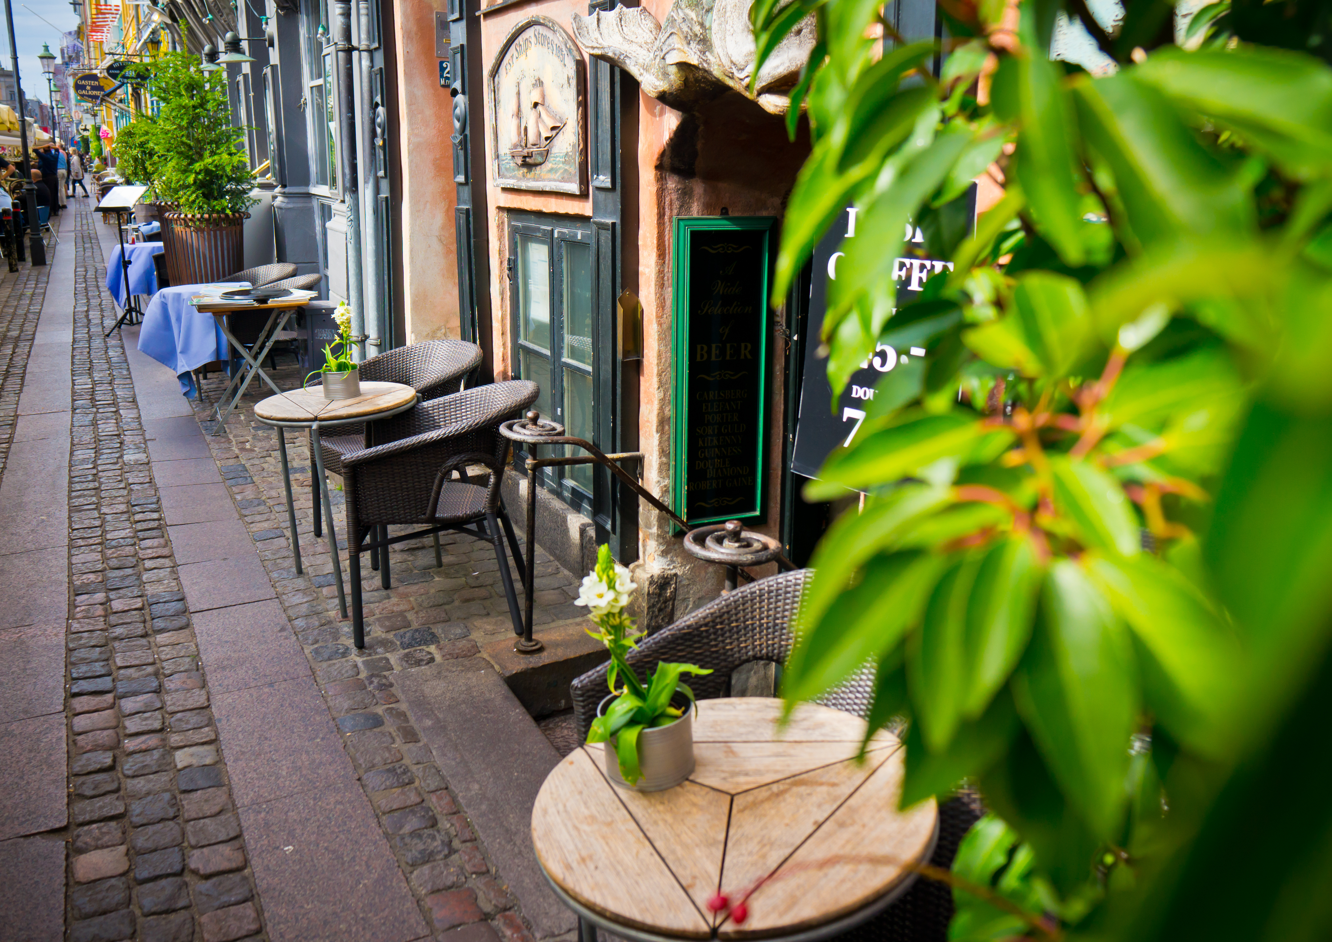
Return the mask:
<path id="1" fill-rule="evenodd" d="M 787 704 L 811 700 L 880 661 L 919 622 L 946 564 L 935 553 L 870 561 L 860 582 L 839 594 L 823 618 L 797 638 L 782 678 Z"/>

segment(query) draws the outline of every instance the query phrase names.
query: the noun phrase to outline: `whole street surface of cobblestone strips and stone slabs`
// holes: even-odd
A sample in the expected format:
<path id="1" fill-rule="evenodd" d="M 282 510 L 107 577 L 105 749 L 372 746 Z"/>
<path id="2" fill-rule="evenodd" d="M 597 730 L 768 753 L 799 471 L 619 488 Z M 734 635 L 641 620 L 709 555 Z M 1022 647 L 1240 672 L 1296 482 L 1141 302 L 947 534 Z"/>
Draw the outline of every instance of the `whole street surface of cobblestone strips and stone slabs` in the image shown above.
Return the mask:
<path id="1" fill-rule="evenodd" d="M 388 590 L 366 560 L 356 650 L 306 441 L 297 574 L 253 418 L 270 390 L 216 428 L 225 377 L 190 404 L 137 329 L 103 337 L 113 244 L 73 200 L 52 265 L 0 280 L 0 937 L 570 935 L 500 781 L 539 783 L 569 725 L 542 737 L 486 657 L 513 637 L 493 549 L 446 536 L 437 566 L 398 544 Z M 289 356 L 273 376 L 300 381 Z M 537 558 L 538 637 L 579 630 L 577 577 Z"/>

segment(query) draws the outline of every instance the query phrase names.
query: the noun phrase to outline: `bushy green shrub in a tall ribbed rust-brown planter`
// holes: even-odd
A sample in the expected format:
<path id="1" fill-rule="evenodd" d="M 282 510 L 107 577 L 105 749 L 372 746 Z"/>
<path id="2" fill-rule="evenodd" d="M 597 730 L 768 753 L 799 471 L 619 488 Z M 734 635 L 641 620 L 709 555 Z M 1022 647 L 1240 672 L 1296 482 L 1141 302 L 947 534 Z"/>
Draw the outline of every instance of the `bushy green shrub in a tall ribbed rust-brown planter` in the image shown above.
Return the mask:
<path id="1" fill-rule="evenodd" d="M 242 229 L 250 197 L 244 128 L 232 125 L 222 72 L 206 73 L 186 52 L 153 63 L 149 85 L 163 103 L 152 123 L 153 191 L 163 215 L 172 284 L 217 281 L 245 266 Z"/>

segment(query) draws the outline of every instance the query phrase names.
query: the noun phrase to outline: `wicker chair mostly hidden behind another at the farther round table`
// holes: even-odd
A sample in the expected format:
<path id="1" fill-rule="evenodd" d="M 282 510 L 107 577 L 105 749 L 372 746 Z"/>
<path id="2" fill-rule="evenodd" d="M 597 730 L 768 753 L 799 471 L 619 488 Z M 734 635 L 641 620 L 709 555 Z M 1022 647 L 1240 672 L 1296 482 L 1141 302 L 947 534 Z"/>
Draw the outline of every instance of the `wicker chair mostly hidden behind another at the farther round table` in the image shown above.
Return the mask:
<path id="1" fill-rule="evenodd" d="M 462 340 L 426 340 L 370 357 L 360 364 L 360 370 L 361 378 L 368 382 L 402 382 L 421 393 L 422 401 L 430 401 L 458 392 L 462 388 L 462 378 L 480 364 L 481 348 L 476 344 Z M 321 436 L 324 470 L 341 474 L 342 456 L 364 450 L 376 440 L 365 425 L 344 425 L 336 436 Z M 314 536 L 318 537 L 322 534 L 318 520 L 321 513 L 318 481 L 310 481 L 310 496 L 314 501 Z M 434 553 L 436 561 L 442 565 L 438 534 L 434 537 Z M 380 565 L 377 550 L 370 553 L 370 568 L 380 570 L 385 589 L 392 588 L 389 568 Z"/>

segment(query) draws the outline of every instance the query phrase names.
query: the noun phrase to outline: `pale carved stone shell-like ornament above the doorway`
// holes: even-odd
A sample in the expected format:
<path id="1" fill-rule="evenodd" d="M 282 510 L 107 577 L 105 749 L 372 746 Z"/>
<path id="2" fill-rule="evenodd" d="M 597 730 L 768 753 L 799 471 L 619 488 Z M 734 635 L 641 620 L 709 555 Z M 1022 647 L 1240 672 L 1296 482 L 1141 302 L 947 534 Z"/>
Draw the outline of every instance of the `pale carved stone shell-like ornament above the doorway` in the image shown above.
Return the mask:
<path id="1" fill-rule="evenodd" d="M 751 92 L 757 52 L 751 5 L 753 0 L 675 0 L 665 23 L 642 7 L 574 13 L 574 36 L 587 55 L 625 69 L 643 92 L 678 111 L 734 89 L 783 115 L 817 40 L 814 17 L 782 40 Z"/>

